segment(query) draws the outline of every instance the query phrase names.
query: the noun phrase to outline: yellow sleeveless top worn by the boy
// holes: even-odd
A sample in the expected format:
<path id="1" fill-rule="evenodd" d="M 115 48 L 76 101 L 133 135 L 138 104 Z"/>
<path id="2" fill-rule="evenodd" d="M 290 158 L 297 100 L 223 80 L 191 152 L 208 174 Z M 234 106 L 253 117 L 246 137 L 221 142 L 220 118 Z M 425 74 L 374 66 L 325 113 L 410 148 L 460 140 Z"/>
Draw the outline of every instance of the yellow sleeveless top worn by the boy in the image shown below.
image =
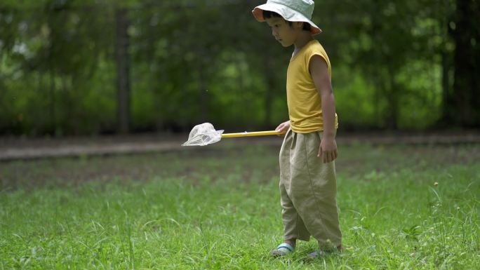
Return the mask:
<path id="1" fill-rule="evenodd" d="M 320 55 L 328 66 L 328 76 L 332 69 L 328 55 L 319 41 L 312 40 L 293 56 L 288 65 L 286 92 L 290 126 L 295 133 L 311 133 L 324 130 L 324 117 L 321 111 L 321 95 L 316 90 L 309 62 L 313 55 Z M 335 129 L 338 116 L 335 114 Z"/>

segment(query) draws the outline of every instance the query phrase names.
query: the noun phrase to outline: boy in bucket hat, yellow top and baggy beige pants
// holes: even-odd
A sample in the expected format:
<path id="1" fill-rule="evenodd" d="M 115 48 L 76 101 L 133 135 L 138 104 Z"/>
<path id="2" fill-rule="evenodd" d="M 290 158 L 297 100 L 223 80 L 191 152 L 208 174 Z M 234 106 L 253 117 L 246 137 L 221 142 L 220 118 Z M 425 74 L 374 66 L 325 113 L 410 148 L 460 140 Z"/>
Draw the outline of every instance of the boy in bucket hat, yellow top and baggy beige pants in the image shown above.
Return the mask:
<path id="1" fill-rule="evenodd" d="M 319 251 L 309 257 L 342 250 L 334 163 L 338 119 L 330 61 L 313 38 L 321 32 L 311 21 L 313 9 L 312 0 L 268 0 L 252 11 L 282 46 L 295 47 L 286 79 L 290 120 L 276 128 L 286 135 L 280 150 L 285 241 L 272 250 L 275 256 L 293 252 L 297 239 L 309 241 L 310 236 L 319 242 Z"/>

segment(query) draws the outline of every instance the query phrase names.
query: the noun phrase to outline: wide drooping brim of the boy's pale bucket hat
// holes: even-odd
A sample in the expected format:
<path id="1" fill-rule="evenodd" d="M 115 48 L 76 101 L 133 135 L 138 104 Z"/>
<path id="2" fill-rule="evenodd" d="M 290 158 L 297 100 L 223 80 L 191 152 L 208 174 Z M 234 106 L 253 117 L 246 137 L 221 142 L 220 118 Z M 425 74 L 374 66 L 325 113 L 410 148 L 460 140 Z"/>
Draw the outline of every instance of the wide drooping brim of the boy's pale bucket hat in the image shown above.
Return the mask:
<path id="1" fill-rule="evenodd" d="M 265 22 L 263 18 L 263 11 L 272 11 L 278 13 L 282 18 L 288 20 L 289 22 L 307 22 L 310 27 L 310 34 L 320 34 L 320 27 L 316 26 L 312 20 L 309 20 L 307 17 L 299 13 L 298 11 L 293 11 L 293 9 L 288 8 L 287 6 L 276 4 L 276 3 L 267 3 L 253 8 L 252 14 L 258 22 Z"/>

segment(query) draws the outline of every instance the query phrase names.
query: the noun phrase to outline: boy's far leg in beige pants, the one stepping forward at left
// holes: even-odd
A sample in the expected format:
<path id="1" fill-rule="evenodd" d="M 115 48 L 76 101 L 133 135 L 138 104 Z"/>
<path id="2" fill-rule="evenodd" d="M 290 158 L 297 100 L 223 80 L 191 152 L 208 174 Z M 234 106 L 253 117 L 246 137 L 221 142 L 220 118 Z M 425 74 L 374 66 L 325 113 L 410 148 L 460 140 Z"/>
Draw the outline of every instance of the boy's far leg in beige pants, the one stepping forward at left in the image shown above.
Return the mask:
<path id="1" fill-rule="evenodd" d="M 285 135 L 284 143 L 280 150 L 280 201 L 281 201 L 281 217 L 284 222 L 284 239 L 286 243 L 295 246 L 296 239 L 308 241 L 310 234 L 305 227 L 302 217 L 295 209 L 295 205 L 290 198 L 289 191 L 291 189 L 291 153 L 295 148 L 296 133 L 288 130 Z"/>

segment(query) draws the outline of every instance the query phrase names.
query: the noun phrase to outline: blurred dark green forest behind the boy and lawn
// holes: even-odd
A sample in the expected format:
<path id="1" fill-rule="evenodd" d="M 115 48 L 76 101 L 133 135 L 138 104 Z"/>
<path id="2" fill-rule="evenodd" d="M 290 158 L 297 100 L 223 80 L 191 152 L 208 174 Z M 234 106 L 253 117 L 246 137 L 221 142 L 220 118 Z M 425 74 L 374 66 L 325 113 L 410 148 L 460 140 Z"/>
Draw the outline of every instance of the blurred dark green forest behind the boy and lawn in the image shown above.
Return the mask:
<path id="1" fill-rule="evenodd" d="M 254 0 L 3 0 L 0 135 L 242 131 L 288 119 L 292 48 Z M 342 130 L 480 126 L 480 1 L 316 1 Z"/>

